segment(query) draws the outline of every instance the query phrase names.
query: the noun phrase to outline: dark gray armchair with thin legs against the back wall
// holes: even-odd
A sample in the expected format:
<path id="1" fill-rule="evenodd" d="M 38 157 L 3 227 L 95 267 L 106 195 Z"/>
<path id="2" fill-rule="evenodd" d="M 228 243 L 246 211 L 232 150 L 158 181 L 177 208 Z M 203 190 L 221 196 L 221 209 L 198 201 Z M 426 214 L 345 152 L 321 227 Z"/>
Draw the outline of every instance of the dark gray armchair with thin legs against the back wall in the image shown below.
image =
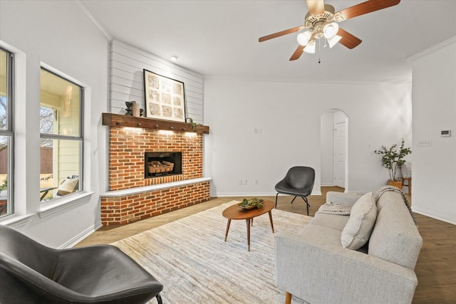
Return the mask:
<path id="1" fill-rule="evenodd" d="M 280 182 L 276 184 L 276 208 L 277 208 L 277 196 L 279 194 L 288 194 L 294 196 L 291 200 L 293 204 L 296 196 L 302 197 L 306 202 L 307 215 L 309 215 L 309 201 L 307 196 L 311 195 L 312 189 L 314 189 L 315 182 L 315 170 L 311 167 L 292 167 L 286 172 L 286 176 Z"/>

